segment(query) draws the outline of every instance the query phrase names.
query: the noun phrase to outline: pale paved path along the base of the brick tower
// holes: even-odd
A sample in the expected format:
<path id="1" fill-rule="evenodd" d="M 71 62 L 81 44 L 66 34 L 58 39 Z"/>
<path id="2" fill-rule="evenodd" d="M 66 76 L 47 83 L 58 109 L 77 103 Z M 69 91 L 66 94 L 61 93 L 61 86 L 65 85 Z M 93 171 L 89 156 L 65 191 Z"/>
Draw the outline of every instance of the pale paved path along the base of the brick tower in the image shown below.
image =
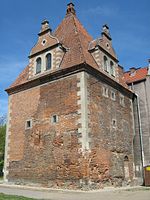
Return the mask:
<path id="1" fill-rule="evenodd" d="M 150 200 L 150 188 L 67 191 L 0 184 L 0 193 L 48 200 Z"/>

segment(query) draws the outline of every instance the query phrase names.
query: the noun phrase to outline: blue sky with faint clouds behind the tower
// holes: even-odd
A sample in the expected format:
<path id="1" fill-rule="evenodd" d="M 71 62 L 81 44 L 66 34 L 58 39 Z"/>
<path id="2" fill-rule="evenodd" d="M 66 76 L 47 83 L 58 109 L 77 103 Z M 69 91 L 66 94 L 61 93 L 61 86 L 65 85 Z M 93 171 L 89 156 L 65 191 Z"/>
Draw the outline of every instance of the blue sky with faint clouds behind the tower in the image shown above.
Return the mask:
<path id="1" fill-rule="evenodd" d="M 53 30 L 66 13 L 66 0 L 1 0 L 0 11 L 0 116 L 7 112 L 7 88 L 28 64 L 30 49 L 37 40 L 41 21 L 48 19 Z M 150 58 L 149 0 L 74 0 L 77 16 L 97 38 L 102 25 L 110 27 L 120 64 L 147 66 Z"/>

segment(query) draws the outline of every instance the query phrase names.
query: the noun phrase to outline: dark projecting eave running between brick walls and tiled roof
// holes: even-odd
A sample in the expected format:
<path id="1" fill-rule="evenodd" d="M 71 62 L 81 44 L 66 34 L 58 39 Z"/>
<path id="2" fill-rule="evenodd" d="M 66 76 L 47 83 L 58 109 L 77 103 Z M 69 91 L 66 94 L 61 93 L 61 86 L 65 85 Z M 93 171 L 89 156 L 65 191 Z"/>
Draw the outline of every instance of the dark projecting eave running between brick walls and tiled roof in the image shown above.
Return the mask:
<path id="1" fill-rule="evenodd" d="M 82 72 L 82 71 L 86 71 L 87 73 L 92 74 L 93 76 L 95 76 L 99 80 L 106 82 L 110 86 L 114 86 L 120 92 L 123 92 L 124 94 L 126 94 L 126 95 L 130 96 L 130 98 L 132 98 L 133 92 L 131 92 L 128 88 L 124 87 L 123 85 L 121 85 L 117 81 L 111 79 L 110 77 L 108 77 L 107 75 L 105 75 L 101 71 L 93 68 L 92 66 L 88 65 L 87 63 L 81 63 L 79 65 L 75 65 L 75 66 L 72 66 L 72 67 L 69 67 L 69 68 L 66 68 L 66 69 L 60 69 L 60 70 L 55 71 L 53 73 L 43 75 L 39 78 L 29 80 L 29 81 L 27 81 L 23 84 L 20 84 L 20 85 L 11 87 L 11 88 L 7 88 L 5 91 L 9 95 L 11 95 L 11 94 L 23 91 L 23 90 L 33 88 L 33 87 L 38 86 L 38 85 L 42 85 L 44 83 L 48 83 L 48 82 L 51 82 L 51 81 L 54 81 L 54 80 L 57 80 L 57 79 L 60 79 L 60 78 L 66 77 L 66 76 L 70 76 L 72 74 Z"/>

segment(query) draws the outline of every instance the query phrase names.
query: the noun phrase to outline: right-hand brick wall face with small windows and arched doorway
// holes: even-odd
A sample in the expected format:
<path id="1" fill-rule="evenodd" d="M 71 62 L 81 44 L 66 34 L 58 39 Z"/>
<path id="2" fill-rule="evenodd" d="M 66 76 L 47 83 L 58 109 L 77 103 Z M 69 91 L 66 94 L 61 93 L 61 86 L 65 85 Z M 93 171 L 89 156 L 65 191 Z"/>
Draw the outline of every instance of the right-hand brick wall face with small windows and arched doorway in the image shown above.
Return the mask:
<path id="1" fill-rule="evenodd" d="M 104 94 L 103 88 L 107 88 L 107 95 Z M 88 91 L 91 129 L 90 179 L 104 185 L 127 184 L 134 177 L 131 100 L 122 94 L 124 105 L 120 105 L 120 92 L 117 88 L 92 76 L 88 79 Z M 114 100 L 111 98 L 111 91 L 115 92 Z M 127 178 L 125 157 L 128 158 Z"/>

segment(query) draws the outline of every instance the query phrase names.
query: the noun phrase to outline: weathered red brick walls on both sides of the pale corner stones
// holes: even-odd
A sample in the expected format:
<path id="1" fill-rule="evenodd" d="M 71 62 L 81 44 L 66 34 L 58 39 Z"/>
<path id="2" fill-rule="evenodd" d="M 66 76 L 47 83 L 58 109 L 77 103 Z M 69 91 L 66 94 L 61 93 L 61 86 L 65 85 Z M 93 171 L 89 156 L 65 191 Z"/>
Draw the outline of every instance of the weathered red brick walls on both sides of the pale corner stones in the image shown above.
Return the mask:
<path id="1" fill-rule="evenodd" d="M 9 181 L 61 188 L 122 185 L 128 181 L 124 173 L 125 156 L 129 158 L 132 180 L 130 99 L 125 96 L 125 105 L 121 106 L 117 89 L 91 75 L 85 76 L 90 149 L 82 151 L 82 133 L 78 132 L 81 128 L 79 77 L 73 75 L 12 95 Z M 103 86 L 108 87 L 108 97 L 103 96 Z M 110 98 L 111 90 L 116 93 L 115 101 Z M 53 115 L 58 116 L 57 123 L 51 122 Z M 26 130 L 28 119 L 32 119 L 33 126 Z M 112 119 L 116 119 L 115 128 Z"/>

